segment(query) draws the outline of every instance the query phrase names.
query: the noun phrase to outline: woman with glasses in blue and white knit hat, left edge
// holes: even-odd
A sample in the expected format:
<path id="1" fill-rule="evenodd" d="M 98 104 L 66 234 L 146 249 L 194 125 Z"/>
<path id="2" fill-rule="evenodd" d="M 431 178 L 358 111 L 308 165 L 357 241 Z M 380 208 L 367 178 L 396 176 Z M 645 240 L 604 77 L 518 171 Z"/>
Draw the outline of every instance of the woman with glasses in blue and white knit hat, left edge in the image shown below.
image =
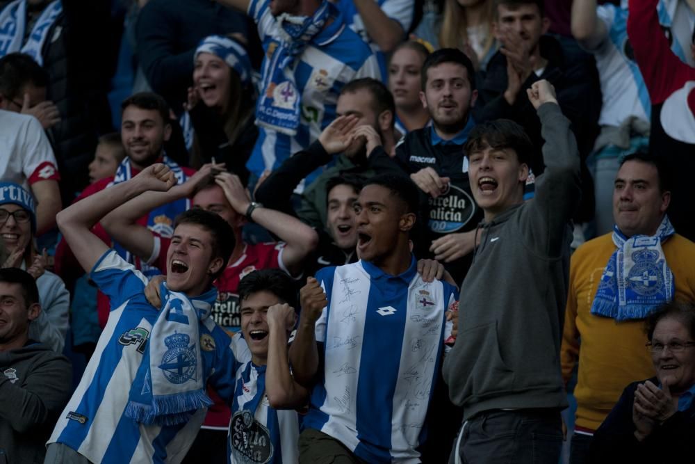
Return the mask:
<path id="1" fill-rule="evenodd" d="M 34 276 L 41 312 L 31 321 L 29 338 L 62 353 L 68 329 L 70 294 L 58 275 L 43 270 L 46 258 L 37 253 L 35 233 L 36 214 L 31 193 L 19 184 L 0 182 L 0 249 L 5 253 L 0 266 L 18 267 Z M 0 312 L 0 337 L 3 330 L 7 328 Z"/>

